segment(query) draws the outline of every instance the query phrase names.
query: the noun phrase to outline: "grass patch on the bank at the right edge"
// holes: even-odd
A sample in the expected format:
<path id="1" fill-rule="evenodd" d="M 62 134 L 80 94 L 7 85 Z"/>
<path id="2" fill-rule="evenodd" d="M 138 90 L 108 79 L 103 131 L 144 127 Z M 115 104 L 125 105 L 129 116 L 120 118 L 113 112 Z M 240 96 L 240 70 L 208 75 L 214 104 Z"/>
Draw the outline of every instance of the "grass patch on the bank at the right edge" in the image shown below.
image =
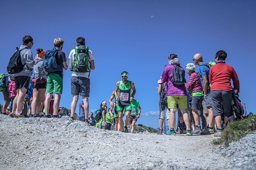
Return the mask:
<path id="1" fill-rule="evenodd" d="M 249 116 L 242 121 L 233 121 L 227 126 L 220 139 L 214 140 L 214 145 L 224 144 L 226 147 L 229 143 L 237 141 L 246 136 L 246 134 L 251 134 L 256 131 L 256 116 Z"/>

